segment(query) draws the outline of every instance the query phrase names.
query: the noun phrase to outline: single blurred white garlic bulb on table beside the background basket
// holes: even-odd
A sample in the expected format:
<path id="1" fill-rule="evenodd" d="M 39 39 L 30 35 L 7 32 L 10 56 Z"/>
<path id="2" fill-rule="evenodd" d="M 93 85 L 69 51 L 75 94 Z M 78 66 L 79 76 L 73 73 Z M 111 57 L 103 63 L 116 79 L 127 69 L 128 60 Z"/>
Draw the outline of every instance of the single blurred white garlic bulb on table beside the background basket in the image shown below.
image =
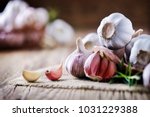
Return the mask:
<path id="1" fill-rule="evenodd" d="M 61 45 L 69 45 L 74 41 L 75 31 L 64 20 L 57 19 L 46 27 L 46 34 Z"/>

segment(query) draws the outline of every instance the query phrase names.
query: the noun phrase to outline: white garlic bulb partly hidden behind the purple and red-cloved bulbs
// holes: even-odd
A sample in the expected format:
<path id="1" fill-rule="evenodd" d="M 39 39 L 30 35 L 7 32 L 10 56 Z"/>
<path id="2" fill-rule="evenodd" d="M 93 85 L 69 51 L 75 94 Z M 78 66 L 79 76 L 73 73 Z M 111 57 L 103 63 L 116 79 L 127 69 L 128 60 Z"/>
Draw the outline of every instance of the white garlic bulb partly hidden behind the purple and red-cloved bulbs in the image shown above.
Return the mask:
<path id="1" fill-rule="evenodd" d="M 82 41 L 85 48 L 89 51 L 92 51 L 94 46 L 103 46 L 103 43 L 95 32 L 87 34 Z"/>

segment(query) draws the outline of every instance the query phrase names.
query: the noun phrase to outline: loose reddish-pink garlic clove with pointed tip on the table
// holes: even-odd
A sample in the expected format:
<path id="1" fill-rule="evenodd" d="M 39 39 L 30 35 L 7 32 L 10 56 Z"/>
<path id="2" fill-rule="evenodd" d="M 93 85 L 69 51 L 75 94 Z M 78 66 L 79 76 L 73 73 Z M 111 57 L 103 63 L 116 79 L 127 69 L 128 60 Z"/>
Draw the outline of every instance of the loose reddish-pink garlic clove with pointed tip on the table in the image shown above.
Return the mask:
<path id="1" fill-rule="evenodd" d="M 55 70 L 46 70 L 45 75 L 49 80 L 58 80 L 62 76 L 62 64 Z"/>

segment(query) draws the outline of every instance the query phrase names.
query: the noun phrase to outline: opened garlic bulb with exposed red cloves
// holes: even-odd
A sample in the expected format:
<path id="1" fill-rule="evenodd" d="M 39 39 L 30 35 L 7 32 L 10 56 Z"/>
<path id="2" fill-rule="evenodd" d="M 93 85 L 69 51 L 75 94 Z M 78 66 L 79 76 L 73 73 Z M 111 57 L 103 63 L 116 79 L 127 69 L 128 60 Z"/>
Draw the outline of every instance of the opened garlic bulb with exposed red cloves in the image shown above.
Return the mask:
<path id="1" fill-rule="evenodd" d="M 111 54 L 108 56 L 108 53 Z M 110 80 L 117 70 L 116 62 L 118 62 L 118 60 L 115 60 L 114 56 L 115 55 L 107 49 L 95 51 L 85 61 L 84 72 L 86 76 L 97 81 Z"/>

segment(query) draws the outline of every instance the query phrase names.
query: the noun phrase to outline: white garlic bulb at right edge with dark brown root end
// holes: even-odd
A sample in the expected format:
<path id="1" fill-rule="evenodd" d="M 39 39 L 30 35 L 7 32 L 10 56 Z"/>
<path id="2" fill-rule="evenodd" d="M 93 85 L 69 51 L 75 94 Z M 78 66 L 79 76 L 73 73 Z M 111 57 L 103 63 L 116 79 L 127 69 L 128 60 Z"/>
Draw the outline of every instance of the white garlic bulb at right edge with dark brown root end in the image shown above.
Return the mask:
<path id="1" fill-rule="evenodd" d="M 150 35 L 140 35 L 134 43 L 129 62 L 137 69 L 143 69 L 150 62 Z"/>

